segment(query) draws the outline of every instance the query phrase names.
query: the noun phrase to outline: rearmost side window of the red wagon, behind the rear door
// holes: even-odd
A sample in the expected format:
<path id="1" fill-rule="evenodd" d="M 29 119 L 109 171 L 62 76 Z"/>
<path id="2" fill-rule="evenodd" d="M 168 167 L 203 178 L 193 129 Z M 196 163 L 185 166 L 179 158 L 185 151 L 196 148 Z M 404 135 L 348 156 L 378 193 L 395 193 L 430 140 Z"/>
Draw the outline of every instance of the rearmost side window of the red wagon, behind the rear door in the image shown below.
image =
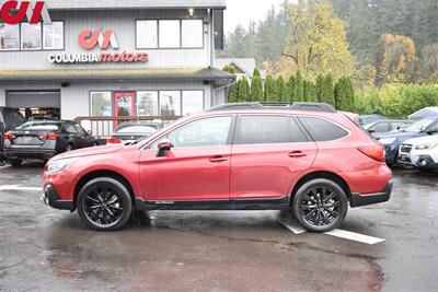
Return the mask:
<path id="1" fill-rule="evenodd" d="M 302 117 L 300 120 L 315 141 L 332 141 L 348 135 L 346 130 L 325 119 Z"/>

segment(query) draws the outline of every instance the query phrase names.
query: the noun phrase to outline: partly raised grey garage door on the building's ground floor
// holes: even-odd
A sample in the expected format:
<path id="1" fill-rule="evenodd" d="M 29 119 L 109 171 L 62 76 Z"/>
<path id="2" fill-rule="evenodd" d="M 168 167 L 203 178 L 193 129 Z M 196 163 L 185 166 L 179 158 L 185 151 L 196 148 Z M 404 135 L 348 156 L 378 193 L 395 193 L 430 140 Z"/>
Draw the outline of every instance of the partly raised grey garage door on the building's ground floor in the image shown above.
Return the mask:
<path id="1" fill-rule="evenodd" d="M 59 91 L 10 91 L 7 92 L 7 107 L 35 108 L 61 107 L 61 94 Z"/>

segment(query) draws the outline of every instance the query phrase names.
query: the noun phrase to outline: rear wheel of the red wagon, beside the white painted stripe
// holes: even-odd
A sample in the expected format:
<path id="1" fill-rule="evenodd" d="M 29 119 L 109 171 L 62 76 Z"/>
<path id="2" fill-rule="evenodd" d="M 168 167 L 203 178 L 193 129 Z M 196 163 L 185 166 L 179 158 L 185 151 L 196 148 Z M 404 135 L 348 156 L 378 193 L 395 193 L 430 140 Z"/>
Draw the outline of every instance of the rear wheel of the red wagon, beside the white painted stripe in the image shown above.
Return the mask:
<path id="1" fill-rule="evenodd" d="M 347 210 L 348 199 L 345 191 L 339 185 L 325 178 L 307 182 L 292 199 L 293 217 L 311 232 L 337 229 L 344 222 Z"/>

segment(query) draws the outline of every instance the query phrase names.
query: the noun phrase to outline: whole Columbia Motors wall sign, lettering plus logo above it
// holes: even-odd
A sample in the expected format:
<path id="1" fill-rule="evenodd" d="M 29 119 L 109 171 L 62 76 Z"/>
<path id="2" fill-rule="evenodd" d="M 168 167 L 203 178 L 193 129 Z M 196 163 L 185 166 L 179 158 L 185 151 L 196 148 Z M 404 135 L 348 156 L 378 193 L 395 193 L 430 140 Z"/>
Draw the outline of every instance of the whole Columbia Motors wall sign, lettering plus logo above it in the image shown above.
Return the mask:
<path id="1" fill-rule="evenodd" d="M 110 47 L 118 49 L 118 42 L 113 31 L 85 30 L 79 34 L 79 46 L 84 50 L 100 48 L 107 50 Z M 100 54 L 53 54 L 49 61 L 54 63 L 95 63 L 95 62 L 147 62 L 147 52 L 103 52 Z"/>

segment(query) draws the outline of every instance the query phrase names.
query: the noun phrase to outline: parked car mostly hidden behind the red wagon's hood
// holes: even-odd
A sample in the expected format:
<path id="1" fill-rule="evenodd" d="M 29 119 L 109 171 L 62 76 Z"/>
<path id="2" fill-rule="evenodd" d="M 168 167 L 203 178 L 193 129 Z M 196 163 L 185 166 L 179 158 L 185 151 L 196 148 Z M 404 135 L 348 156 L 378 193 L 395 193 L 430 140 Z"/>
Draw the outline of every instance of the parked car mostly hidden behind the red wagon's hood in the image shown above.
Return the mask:
<path id="1" fill-rule="evenodd" d="M 163 127 L 162 121 L 124 122 L 106 140 L 108 144 L 129 143 L 148 138 Z"/>

